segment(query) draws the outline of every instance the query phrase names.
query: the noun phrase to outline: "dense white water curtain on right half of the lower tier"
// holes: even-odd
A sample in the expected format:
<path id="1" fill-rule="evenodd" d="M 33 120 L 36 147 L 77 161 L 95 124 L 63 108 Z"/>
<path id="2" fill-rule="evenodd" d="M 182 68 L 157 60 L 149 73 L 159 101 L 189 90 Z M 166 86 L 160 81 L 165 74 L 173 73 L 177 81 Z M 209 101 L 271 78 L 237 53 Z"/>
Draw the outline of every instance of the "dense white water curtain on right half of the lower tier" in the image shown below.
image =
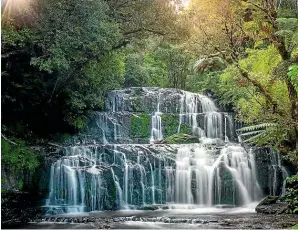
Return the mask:
<path id="1" fill-rule="evenodd" d="M 201 144 L 184 146 L 178 150 L 176 167 L 176 203 L 212 206 L 215 199 L 221 203 L 221 196 L 225 196 L 247 205 L 261 197 L 253 155 L 241 146 L 224 147 L 217 158 Z M 226 175 L 221 177 L 220 173 L 230 176 L 234 197 L 222 191 Z"/>

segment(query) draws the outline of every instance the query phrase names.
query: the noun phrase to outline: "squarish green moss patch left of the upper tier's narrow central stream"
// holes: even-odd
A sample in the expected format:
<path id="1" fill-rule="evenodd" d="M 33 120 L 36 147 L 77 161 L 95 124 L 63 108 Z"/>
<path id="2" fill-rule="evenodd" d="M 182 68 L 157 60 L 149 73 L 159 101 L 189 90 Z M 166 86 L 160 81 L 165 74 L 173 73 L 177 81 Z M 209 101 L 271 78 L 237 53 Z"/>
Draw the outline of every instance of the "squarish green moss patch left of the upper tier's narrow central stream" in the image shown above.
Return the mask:
<path id="1" fill-rule="evenodd" d="M 150 115 L 134 114 L 131 117 L 130 134 L 132 137 L 149 137 Z"/>

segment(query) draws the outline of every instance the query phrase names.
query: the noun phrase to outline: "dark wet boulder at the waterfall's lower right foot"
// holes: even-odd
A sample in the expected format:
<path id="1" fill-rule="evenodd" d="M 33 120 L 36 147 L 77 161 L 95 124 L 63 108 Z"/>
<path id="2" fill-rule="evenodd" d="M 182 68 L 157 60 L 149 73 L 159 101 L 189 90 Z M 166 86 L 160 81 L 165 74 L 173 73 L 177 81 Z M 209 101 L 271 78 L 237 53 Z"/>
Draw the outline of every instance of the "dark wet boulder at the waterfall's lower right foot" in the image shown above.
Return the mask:
<path id="1" fill-rule="evenodd" d="M 280 202 L 278 196 L 267 196 L 256 207 L 257 213 L 281 214 L 288 210 L 286 202 Z"/>

